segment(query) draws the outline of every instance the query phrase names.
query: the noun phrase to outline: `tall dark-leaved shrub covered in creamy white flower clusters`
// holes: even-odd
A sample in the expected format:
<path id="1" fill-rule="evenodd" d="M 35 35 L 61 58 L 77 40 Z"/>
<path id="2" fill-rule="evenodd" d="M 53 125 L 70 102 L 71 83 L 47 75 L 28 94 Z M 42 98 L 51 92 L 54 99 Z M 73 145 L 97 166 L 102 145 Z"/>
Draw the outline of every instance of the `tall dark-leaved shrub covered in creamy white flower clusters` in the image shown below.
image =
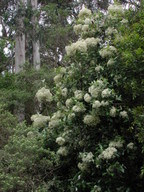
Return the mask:
<path id="1" fill-rule="evenodd" d="M 59 115 L 47 129 L 57 131 L 59 166 L 68 169 L 65 191 L 134 191 L 132 108 L 121 89 L 125 12 L 120 5 L 110 5 L 106 15 L 83 8 L 74 26 L 79 39 L 66 47 L 71 65 L 54 77 Z"/>

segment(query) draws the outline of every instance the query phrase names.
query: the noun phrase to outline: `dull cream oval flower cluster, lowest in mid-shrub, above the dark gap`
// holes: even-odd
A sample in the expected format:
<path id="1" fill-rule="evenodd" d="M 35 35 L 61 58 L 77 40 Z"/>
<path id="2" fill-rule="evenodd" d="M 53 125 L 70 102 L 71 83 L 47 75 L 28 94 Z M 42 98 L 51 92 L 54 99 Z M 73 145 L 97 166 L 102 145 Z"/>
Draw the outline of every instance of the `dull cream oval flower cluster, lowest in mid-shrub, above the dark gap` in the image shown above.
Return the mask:
<path id="1" fill-rule="evenodd" d="M 98 116 L 85 115 L 83 122 L 86 125 L 93 126 L 93 125 L 97 125 L 100 122 L 100 119 Z"/>

